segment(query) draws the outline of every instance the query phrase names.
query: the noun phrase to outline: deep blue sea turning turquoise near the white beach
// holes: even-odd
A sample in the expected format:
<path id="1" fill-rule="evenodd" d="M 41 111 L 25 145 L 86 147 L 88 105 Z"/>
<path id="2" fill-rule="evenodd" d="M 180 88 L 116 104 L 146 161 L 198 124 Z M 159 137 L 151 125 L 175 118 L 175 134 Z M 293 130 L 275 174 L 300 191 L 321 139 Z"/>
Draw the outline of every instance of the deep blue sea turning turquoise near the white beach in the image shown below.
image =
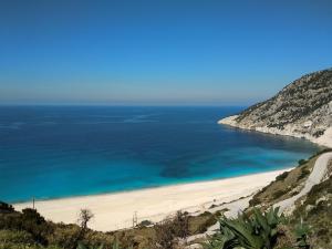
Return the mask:
<path id="1" fill-rule="evenodd" d="M 303 139 L 217 124 L 243 107 L 0 107 L 0 200 L 227 178 L 294 166 Z"/>

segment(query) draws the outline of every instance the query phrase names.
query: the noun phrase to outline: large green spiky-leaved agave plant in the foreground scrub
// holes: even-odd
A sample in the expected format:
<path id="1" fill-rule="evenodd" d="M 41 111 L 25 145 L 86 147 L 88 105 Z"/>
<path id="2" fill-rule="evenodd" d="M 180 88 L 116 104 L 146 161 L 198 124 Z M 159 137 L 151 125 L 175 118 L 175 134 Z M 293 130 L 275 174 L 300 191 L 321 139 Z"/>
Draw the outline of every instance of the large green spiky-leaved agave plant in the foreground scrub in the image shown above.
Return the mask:
<path id="1" fill-rule="evenodd" d="M 253 209 L 250 217 L 242 214 L 237 219 L 221 217 L 220 232 L 204 246 L 208 249 L 271 249 L 277 241 L 277 226 L 283 220 L 279 208 L 267 212 Z"/>

